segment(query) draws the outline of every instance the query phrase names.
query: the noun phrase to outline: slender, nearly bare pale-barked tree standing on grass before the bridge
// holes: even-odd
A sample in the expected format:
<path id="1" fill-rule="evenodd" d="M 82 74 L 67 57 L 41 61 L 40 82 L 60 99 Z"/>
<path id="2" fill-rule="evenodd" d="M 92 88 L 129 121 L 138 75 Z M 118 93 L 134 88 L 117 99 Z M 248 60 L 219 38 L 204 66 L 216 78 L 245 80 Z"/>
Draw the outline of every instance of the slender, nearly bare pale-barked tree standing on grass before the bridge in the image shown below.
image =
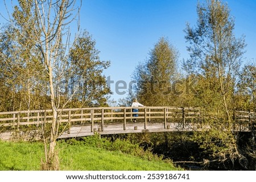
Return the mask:
<path id="1" fill-rule="evenodd" d="M 45 145 L 46 163 L 44 167 L 47 170 L 59 169 L 59 159 L 55 150 L 60 124 L 57 113 L 59 105 L 56 100 L 56 83 L 61 81 L 63 70 L 67 67 L 65 54 L 68 52 L 67 48 L 70 43 L 65 40 L 69 40 L 68 25 L 72 22 L 74 14 L 77 15 L 75 6 L 76 1 L 69 0 L 20 0 L 19 7 L 16 6 L 14 12 L 14 19 L 18 23 L 20 16 L 30 14 L 27 23 L 31 23 L 32 26 L 27 26 L 27 23 L 20 23 L 19 26 L 23 31 L 34 36 L 30 43 L 40 52 L 40 60 L 36 60 L 34 65 L 42 65 L 44 75 L 46 75 L 46 94 L 49 95 L 53 115 L 49 140 Z M 15 16 L 16 14 L 20 16 Z"/>

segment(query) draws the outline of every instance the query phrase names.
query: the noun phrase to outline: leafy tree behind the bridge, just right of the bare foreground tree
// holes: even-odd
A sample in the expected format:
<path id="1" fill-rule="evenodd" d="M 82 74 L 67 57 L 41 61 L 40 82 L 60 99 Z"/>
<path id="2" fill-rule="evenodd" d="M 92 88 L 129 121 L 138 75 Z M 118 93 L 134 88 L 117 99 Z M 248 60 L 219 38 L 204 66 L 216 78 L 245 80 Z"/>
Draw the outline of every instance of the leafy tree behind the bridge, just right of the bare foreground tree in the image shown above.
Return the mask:
<path id="1" fill-rule="evenodd" d="M 102 71 L 109 67 L 110 61 L 100 60 L 95 45 L 96 41 L 84 31 L 69 54 L 71 67 L 76 70 L 70 75 L 70 94 L 75 94 L 73 101 L 76 100 L 77 107 L 103 107 L 109 98 L 110 89 Z"/>

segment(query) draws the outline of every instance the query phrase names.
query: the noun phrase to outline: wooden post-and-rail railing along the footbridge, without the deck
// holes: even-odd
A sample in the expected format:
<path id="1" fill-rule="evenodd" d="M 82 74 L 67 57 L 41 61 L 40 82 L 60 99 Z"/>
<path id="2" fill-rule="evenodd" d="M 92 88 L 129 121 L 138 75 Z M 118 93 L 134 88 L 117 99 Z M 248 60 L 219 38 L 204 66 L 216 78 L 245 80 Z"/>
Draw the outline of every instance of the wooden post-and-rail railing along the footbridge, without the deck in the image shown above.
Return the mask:
<path id="1" fill-rule="evenodd" d="M 132 122 L 134 118 L 137 122 L 143 122 L 146 128 L 147 123 L 163 122 L 164 128 L 167 123 L 179 122 L 184 128 L 189 123 L 197 123 L 202 127 L 204 114 L 200 108 L 189 107 L 139 107 L 134 117 L 133 107 L 100 107 L 100 108 L 71 108 L 59 109 L 58 122 L 67 124 L 67 129 L 72 125 L 91 125 L 92 132 L 95 124 L 101 124 L 101 130 L 104 130 L 105 124 L 122 123 L 123 129 L 126 129 L 126 123 Z M 234 128 L 243 130 L 248 128 L 255 121 L 255 113 L 245 111 L 234 112 Z M 13 129 L 22 130 L 31 126 L 36 128 L 45 123 L 52 122 L 52 111 L 35 110 L 35 111 L 14 111 L 0 112 L 0 132 L 10 131 Z"/>

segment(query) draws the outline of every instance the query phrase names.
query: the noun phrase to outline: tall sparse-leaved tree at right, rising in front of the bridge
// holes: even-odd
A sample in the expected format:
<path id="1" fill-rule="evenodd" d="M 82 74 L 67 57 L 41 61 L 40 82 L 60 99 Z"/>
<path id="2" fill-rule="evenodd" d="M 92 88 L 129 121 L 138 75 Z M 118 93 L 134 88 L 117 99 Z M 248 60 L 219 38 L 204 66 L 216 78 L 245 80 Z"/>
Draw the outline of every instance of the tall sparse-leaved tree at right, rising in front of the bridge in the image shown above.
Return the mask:
<path id="1" fill-rule="evenodd" d="M 234 36 L 234 19 L 230 16 L 228 5 L 222 1 L 198 3 L 197 16 L 197 26 L 191 28 L 187 24 L 185 29 L 190 58 L 184 66 L 199 79 L 196 97 L 209 102 L 218 117 L 209 118 L 210 129 L 196 133 L 194 139 L 210 158 L 218 158 L 223 163 L 227 159 L 232 162 L 239 159 L 245 167 L 246 159 L 238 151 L 229 110 L 246 46 L 245 39 Z M 223 118 L 220 117 L 222 113 Z"/>

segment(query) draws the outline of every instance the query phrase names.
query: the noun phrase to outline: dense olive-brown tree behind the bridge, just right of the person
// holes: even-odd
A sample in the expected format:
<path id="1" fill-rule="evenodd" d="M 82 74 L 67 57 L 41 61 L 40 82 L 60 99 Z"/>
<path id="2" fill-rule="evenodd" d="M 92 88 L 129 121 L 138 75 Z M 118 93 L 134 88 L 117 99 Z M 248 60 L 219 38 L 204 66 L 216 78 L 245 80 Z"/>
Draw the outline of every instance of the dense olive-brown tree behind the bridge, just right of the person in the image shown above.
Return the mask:
<path id="1" fill-rule="evenodd" d="M 133 73 L 133 79 L 137 82 L 134 91 L 144 105 L 164 106 L 172 103 L 177 58 L 174 46 L 161 37 L 150 51 L 148 60 L 136 67 Z"/>

